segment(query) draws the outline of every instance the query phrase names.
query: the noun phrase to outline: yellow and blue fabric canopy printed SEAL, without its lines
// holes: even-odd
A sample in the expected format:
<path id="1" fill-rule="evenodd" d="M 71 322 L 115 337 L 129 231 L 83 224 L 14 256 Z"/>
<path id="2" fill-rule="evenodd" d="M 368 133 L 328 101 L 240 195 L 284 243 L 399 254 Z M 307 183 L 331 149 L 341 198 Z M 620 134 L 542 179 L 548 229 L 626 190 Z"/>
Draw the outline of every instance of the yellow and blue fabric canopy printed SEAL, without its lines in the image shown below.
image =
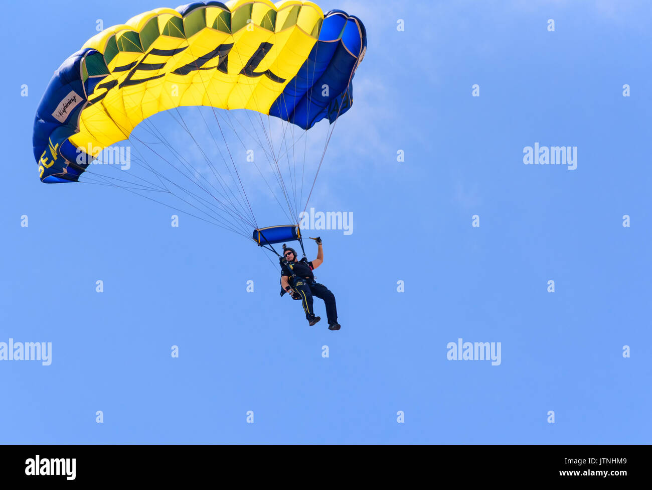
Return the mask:
<path id="1" fill-rule="evenodd" d="M 74 27 L 74 26 L 70 26 Z M 55 71 L 34 122 L 41 181 L 78 181 L 143 119 L 181 106 L 248 109 L 309 129 L 351 104 L 363 23 L 309 1 L 157 8 L 89 39 Z"/>

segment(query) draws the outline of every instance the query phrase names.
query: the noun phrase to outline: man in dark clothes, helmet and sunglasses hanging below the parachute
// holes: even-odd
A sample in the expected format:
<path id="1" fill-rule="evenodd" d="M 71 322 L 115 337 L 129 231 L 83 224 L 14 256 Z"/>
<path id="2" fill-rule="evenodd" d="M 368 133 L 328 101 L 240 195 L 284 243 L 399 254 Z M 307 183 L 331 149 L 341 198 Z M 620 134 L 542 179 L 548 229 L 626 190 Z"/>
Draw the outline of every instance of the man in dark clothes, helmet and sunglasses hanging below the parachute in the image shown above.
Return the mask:
<path id="1" fill-rule="evenodd" d="M 308 324 L 313 326 L 321 318 L 315 316 L 312 307 L 312 297 L 317 296 L 324 300 L 326 305 L 326 316 L 328 319 L 329 330 L 339 330 L 340 324 L 337 322 L 337 309 L 335 307 L 335 296 L 323 284 L 315 281 L 312 273 L 313 269 L 318 268 L 323 263 L 324 253 L 321 248 L 321 238 L 312 238 L 317 242 L 317 258 L 308 262 L 304 257 L 297 260 L 297 252 L 291 247 L 283 245 L 283 257 L 281 262 L 281 286 L 295 299 L 301 299 L 303 311 L 306 313 Z M 295 276 L 296 279 L 293 277 Z M 290 285 L 292 284 L 292 285 Z"/>

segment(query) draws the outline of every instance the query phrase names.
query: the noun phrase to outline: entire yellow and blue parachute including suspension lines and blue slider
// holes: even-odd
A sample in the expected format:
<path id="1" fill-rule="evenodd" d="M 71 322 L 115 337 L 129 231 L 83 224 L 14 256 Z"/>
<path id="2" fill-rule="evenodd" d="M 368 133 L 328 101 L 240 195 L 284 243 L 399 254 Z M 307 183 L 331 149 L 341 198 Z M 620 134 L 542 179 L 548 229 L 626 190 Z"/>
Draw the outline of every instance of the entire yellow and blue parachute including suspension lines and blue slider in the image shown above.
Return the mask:
<path id="1" fill-rule="evenodd" d="M 303 251 L 298 224 L 261 228 L 254 209 L 279 222 L 271 195 L 301 221 L 365 53 L 357 17 L 310 1 L 144 12 L 55 71 L 34 121 L 40 179 L 119 187 L 274 253 Z"/>

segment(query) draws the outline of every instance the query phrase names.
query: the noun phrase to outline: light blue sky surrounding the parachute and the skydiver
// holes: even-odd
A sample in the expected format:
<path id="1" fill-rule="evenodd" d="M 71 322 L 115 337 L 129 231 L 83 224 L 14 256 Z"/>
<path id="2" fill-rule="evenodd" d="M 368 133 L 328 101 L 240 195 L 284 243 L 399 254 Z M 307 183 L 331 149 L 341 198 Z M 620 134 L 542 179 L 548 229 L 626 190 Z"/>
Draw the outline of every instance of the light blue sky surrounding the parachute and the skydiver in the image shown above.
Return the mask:
<path id="1" fill-rule="evenodd" d="M 652 6 L 320 5 L 368 33 L 309 205 L 353 214 L 352 234 L 318 232 L 336 332 L 278 297 L 278 268 L 242 237 L 38 180 L 53 70 L 97 19 L 176 5 L 36 1 L 5 25 L 0 342 L 51 342 L 52 363 L 0 361 L 0 442 L 649 444 Z M 576 170 L 524 165 L 535 142 L 577 147 Z M 251 198 L 258 224 L 286 222 Z M 501 343 L 500 365 L 448 360 L 459 338 Z"/>

